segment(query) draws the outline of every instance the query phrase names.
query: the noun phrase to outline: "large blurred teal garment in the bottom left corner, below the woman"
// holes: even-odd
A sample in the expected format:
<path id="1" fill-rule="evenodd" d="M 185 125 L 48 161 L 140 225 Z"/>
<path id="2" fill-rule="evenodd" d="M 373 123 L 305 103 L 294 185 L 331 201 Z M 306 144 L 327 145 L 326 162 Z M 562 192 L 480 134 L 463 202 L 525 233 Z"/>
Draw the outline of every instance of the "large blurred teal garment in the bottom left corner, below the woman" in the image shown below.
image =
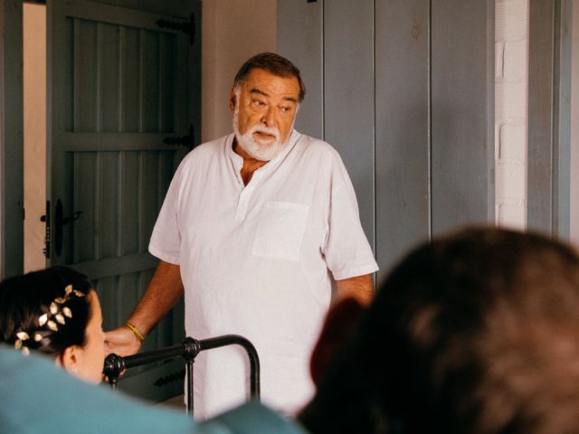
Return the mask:
<path id="1" fill-rule="evenodd" d="M 40 355 L 0 345 L 0 432 L 194 433 L 185 413 L 81 382 Z M 211 430 L 203 432 L 211 432 Z"/>

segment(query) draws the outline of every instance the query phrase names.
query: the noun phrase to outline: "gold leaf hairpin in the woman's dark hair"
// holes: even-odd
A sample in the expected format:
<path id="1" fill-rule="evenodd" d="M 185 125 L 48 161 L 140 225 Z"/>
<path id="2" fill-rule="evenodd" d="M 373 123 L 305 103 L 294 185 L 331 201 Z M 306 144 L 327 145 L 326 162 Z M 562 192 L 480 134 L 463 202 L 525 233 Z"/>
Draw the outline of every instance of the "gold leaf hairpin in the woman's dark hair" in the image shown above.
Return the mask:
<path id="1" fill-rule="evenodd" d="M 68 285 L 64 288 L 64 297 L 56 297 L 52 301 L 48 312 L 43 313 L 43 315 L 38 316 L 38 325 L 42 328 L 48 328 L 52 332 L 58 332 L 58 325 L 65 325 L 66 318 L 72 317 L 72 311 L 70 307 L 62 307 L 64 303 L 71 299 L 71 296 L 75 297 L 86 297 L 83 292 L 72 288 L 72 285 Z M 28 348 L 26 341 L 30 339 L 30 335 L 24 330 L 16 332 L 16 339 L 14 340 L 14 349 L 22 350 L 24 355 L 30 354 L 30 349 Z M 43 335 L 39 333 L 38 330 L 33 331 L 33 340 L 35 342 L 40 342 L 43 340 Z"/>

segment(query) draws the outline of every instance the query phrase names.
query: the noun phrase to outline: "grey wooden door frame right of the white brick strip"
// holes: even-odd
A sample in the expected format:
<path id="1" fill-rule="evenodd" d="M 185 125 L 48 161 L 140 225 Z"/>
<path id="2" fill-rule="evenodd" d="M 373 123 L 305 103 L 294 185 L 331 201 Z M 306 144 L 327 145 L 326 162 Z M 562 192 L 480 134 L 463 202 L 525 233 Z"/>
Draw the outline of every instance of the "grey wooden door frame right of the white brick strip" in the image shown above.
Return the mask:
<path id="1" fill-rule="evenodd" d="M 570 236 L 571 11 L 572 0 L 529 2 L 527 227 L 564 240 Z"/>

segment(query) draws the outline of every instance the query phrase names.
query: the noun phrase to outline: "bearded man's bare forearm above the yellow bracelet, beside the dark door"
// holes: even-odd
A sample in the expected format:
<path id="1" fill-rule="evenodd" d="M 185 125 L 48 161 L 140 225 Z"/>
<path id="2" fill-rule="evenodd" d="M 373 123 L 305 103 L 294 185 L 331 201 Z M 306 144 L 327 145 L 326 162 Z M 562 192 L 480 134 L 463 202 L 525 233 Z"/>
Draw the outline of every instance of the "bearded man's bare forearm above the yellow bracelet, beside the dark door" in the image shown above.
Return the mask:
<path id="1" fill-rule="evenodd" d="M 181 296 L 183 296 L 181 269 L 178 265 L 161 260 L 145 294 L 128 321 L 141 333 L 148 335 Z"/>

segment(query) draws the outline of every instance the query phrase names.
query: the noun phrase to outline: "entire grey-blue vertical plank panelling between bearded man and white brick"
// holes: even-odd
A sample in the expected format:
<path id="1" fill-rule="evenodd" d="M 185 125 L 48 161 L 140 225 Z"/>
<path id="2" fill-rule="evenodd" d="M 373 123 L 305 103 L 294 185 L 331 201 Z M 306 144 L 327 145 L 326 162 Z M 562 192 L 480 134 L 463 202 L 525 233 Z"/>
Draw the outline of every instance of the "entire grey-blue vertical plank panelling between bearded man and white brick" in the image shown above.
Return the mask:
<path id="1" fill-rule="evenodd" d="M 375 207 L 379 278 L 432 233 L 493 221 L 492 0 L 281 0 L 278 14 L 280 53 L 322 86 L 308 128 L 344 156 L 366 231 Z"/>

